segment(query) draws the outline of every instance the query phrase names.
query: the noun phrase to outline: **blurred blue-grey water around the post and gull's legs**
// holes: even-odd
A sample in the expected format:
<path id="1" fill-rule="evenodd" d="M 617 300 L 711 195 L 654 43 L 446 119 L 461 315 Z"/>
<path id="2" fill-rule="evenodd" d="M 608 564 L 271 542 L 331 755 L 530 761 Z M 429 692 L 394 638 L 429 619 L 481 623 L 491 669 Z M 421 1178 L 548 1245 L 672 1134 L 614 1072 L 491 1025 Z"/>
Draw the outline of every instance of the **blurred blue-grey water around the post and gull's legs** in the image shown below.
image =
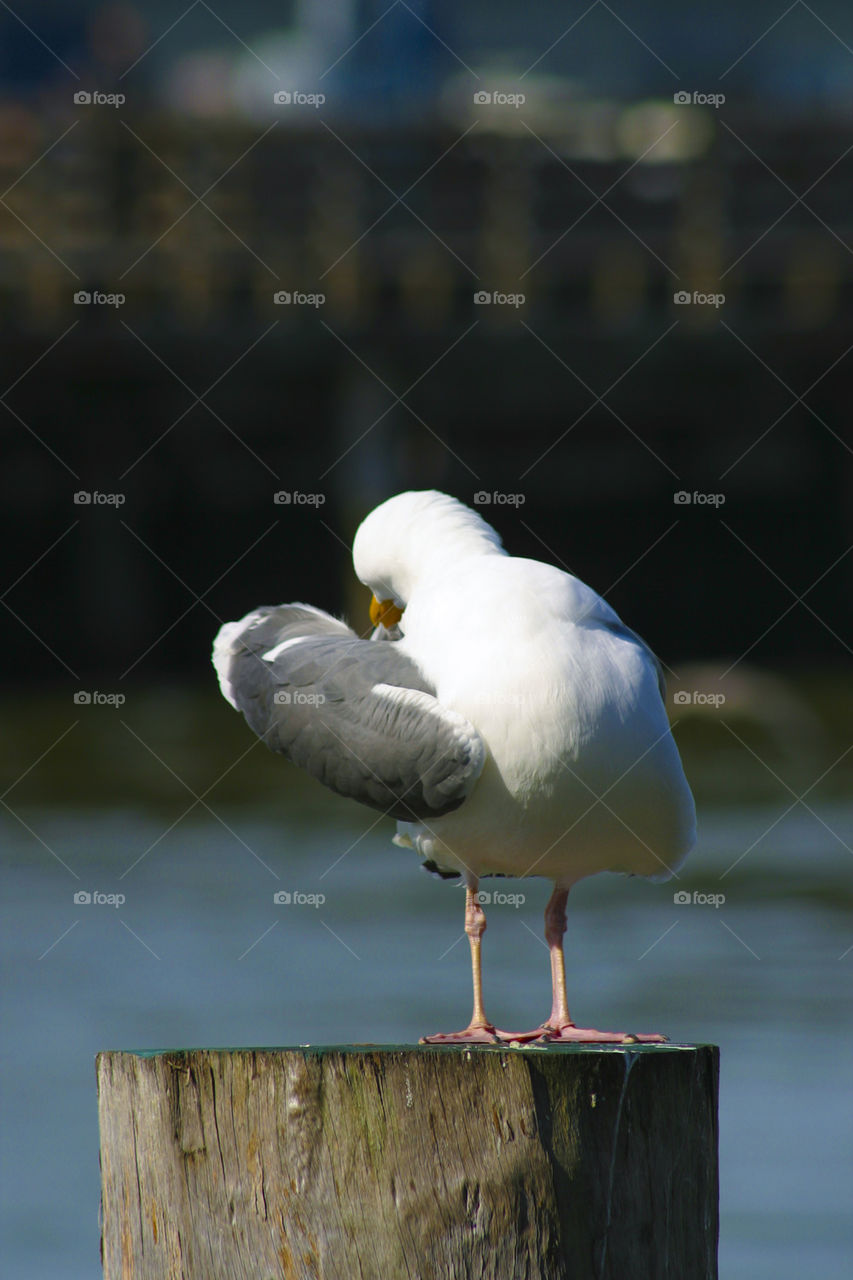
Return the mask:
<path id="1" fill-rule="evenodd" d="M 391 846 L 388 820 L 364 835 L 356 809 L 328 810 L 321 824 L 289 804 L 260 818 L 218 806 L 222 822 L 196 809 L 165 835 L 173 818 L 136 809 L 18 809 L 40 838 L 9 820 L 6 1276 L 100 1274 L 97 1050 L 406 1042 L 467 1019 L 461 891 Z M 820 808 L 826 826 L 795 809 L 760 840 L 780 812 L 706 813 L 678 884 L 578 886 L 570 1004 L 594 1025 L 720 1043 L 721 1275 L 841 1280 L 853 1262 L 853 929 L 850 854 L 833 831 L 849 835 L 853 809 Z M 488 911 L 487 1009 L 498 1024 L 535 1024 L 549 1000 L 548 884 L 484 887 L 526 899 Z M 77 905 L 79 890 L 126 902 Z M 676 890 L 726 901 L 676 905 Z M 275 905 L 277 891 L 325 901 Z"/>

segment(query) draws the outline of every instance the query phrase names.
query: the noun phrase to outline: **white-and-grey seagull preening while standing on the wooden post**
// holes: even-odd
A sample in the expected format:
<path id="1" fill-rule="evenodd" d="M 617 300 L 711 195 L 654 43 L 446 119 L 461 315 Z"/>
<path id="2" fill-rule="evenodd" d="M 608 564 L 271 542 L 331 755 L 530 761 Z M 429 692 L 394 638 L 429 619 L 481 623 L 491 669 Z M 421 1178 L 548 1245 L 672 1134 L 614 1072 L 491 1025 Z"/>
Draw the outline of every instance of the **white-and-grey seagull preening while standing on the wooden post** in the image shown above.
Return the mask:
<path id="1" fill-rule="evenodd" d="M 424 1043 L 630 1043 L 569 1014 L 562 936 L 574 884 L 598 872 L 669 879 L 695 808 L 661 664 L 592 588 L 510 556 L 478 511 L 434 490 L 370 512 L 352 547 L 370 639 L 309 604 L 220 628 L 225 699 L 272 750 L 397 820 L 394 844 L 465 883 L 474 1011 Z M 551 1012 L 529 1032 L 485 1015 L 484 876 L 553 881 L 544 913 Z"/>

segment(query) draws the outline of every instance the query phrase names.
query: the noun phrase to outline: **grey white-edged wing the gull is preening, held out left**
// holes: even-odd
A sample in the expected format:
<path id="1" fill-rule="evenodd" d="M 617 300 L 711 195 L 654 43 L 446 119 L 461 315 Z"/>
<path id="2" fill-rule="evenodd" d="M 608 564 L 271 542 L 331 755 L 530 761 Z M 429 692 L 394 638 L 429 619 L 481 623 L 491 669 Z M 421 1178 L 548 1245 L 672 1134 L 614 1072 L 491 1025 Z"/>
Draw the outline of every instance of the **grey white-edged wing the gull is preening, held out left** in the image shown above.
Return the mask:
<path id="1" fill-rule="evenodd" d="M 223 695 L 266 745 L 338 795 L 414 822 L 457 809 L 485 748 L 392 643 L 360 640 L 305 604 L 227 622 L 214 643 Z"/>

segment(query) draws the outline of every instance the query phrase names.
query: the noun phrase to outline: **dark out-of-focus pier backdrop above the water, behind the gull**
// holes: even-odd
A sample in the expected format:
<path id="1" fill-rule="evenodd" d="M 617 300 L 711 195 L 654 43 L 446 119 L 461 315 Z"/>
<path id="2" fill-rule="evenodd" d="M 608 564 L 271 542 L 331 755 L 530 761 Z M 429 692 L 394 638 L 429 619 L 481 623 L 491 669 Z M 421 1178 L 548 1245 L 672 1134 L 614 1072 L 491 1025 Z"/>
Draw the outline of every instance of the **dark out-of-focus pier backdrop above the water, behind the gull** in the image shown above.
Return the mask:
<path id="1" fill-rule="evenodd" d="M 736 658 L 790 591 L 849 636 L 843 32 L 806 6 L 751 50 L 772 6 L 715 6 L 715 40 L 666 5 L 566 35 L 546 4 L 275 8 L 0 17 L 0 518 L 13 579 L 46 553 L 8 669 L 64 678 L 49 645 L 119 676 L 187 603 L 154 553 L 196 590 L 223 573 L 214 609 L 339 608 L 337 538 L 412 485 L 521 493 L 511 549 L 620 579 L 671 655 Z M 123 301 L 74 302 L 99 292 Z M 279 490 L 323 507 L 282 520 Z M 674 503 L 694 490 L 725 506 Z M 193 611 L 133 675 L 188 673 L 209 632 Z M 756 655 L 844 652 L 798 607 Z"/>

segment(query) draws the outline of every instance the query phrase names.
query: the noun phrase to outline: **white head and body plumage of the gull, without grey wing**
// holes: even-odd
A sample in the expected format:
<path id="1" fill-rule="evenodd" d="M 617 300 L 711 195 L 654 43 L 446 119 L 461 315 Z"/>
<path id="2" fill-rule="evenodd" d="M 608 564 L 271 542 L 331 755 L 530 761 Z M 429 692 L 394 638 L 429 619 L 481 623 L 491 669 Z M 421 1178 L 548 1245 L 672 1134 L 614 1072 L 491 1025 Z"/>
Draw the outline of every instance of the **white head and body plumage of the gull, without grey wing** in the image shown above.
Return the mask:
<path id="1" fill-rule="evenodd" d="M 695 840 L 657 664 L 576 577 L 507 556 L 474 511 L 438 493 L 378 507 L 357 576 L 405 608 L 398 641 L 487 748 L 465 804 L 400 835 L 442 868 L 601 870 L 667 878 Z"/>

